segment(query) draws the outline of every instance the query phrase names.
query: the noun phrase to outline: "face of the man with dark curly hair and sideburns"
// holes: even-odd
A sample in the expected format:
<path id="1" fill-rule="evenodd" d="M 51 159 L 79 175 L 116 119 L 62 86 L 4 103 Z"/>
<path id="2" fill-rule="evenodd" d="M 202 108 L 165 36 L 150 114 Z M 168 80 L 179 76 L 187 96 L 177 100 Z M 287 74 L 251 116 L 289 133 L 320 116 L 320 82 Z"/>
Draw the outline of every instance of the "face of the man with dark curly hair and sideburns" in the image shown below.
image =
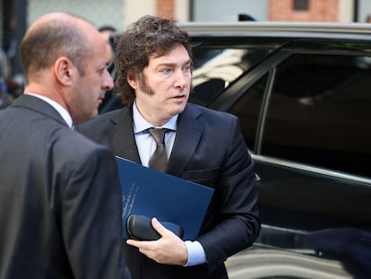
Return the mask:
<path id="1" fill-rule="evenodd" d="M 183 45 L 162 57 L 151 57 L 143 70 L 143 82 L 137 80 L 134 88 L 142 116 L 161 126 L 181 113 L 189 97 L 191 79 L 191 59 Z"/>

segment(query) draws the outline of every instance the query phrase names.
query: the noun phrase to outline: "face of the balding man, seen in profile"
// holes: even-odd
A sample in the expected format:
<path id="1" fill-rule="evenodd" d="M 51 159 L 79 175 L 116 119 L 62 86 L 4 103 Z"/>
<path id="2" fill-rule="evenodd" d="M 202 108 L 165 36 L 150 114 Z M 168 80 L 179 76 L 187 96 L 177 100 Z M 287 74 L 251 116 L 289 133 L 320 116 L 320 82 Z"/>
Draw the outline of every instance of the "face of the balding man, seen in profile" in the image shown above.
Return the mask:
<path id="1" fill-rule="evenodd" d="M 86 122 L 98 115 L 98 108 L 104 99 L 104 93 L 114 86 L 112 77 L 107 70 L 108 63 L 108 53 L 103 39 L 101 39 L 100 44 L 94 48 L 91 57 L 85 61 L 85 74 L 78 74 L 75 78 L 74 100 L 70 103 L 73 106 L 70 109 L 74 124 Z"/>

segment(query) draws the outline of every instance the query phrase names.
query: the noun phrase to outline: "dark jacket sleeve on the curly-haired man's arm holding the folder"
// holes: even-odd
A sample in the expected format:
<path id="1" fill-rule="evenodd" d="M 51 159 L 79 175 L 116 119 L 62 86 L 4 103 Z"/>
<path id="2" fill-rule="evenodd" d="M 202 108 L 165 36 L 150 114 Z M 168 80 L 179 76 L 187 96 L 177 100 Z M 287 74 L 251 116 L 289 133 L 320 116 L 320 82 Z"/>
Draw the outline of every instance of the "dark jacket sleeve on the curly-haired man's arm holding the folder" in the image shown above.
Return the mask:
<path id="1" fill-rule="evenodd" d="M 254 162 L 247 153 L 239 121 L 231 118 L 226 159 L 220 167 L 215 202 L 210 212 L 218 217 L 213 229 L 199 237 L 209 264 L 219 265 L 228 257 L 250 247 L 260 231 Z M 220 149 L 223 147 L 220 146 Z"/>

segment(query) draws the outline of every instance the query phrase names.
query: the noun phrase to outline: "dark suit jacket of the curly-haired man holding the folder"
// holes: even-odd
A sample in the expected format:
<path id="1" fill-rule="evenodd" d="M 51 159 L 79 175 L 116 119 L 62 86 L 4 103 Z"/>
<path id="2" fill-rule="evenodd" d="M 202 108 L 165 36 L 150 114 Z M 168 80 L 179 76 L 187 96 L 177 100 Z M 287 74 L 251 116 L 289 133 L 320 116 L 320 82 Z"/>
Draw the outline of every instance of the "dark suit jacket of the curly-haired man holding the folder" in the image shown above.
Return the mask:
<path id="1" fill-rule="evenodd" d="M 121 157 L 141 163 L 134 140 L 132 109 L 100 115 L 79 128 Z M 215 189 L 198 241 L 207 265 L 165 266 L 125 245 L 134 278 L 227 278 L 224 260 L 252 245 L 260 231 L 253 161 L 235 116 L 187 104 L 167 172 Z"/>

